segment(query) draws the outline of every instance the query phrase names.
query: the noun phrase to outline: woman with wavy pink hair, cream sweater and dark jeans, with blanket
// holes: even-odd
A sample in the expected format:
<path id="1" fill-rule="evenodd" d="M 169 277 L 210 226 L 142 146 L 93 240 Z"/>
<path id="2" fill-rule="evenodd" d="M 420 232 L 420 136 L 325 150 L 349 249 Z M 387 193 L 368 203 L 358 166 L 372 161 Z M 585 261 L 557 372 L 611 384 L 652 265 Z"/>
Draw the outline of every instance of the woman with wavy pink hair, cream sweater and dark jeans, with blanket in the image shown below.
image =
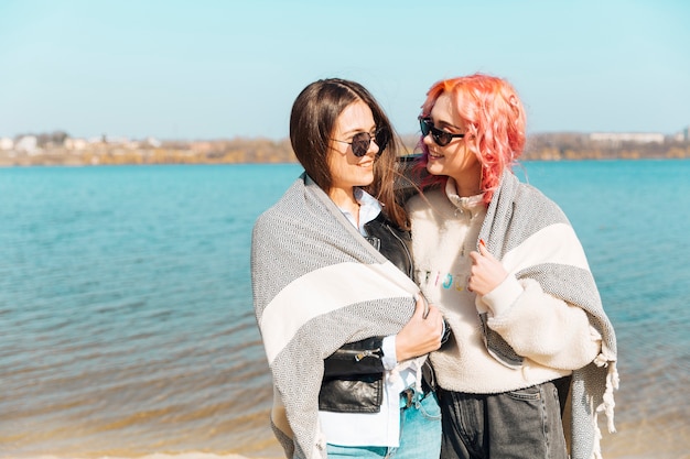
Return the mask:
<path id="1" fill-rule="evenodd" d="M 568 218 L 511 173 L 526 138 L 518 95 L 488 75 L 442 80 L 419 120 L 414 275 L 452 329 L 431 354 L 441 457 L 601 457 L 615 334 Z"/>

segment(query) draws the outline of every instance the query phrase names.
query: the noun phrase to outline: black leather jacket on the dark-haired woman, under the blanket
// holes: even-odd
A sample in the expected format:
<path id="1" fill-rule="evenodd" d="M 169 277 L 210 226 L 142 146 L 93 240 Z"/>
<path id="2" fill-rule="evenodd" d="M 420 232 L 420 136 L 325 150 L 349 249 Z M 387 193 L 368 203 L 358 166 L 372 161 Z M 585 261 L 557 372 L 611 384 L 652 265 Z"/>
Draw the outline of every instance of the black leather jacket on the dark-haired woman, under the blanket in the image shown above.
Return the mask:
<path id="1" fill-rule="evenodd" d="M 382 214 L 368 223 L 366 239 L 412 278 L 410 233 L 398 229 Z M 344 345 L 324 360 L 319 408 L 338 413 L 378 413 L 384 394 L 384 337 Z"/>

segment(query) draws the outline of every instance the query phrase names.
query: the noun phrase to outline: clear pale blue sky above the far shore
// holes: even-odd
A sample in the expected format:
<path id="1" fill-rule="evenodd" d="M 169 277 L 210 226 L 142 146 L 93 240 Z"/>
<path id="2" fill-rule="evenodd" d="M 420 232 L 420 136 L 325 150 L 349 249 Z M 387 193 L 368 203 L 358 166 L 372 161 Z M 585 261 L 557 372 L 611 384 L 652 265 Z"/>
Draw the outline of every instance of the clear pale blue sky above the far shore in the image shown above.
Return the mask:
<path id="1" fill-rule="evenodd" d="M 516 86 L 530 133 L 675 133 L 690 2 L 0 0 L 0 136 L 282 139 L 333 76 L 406 134 L 432 83 L 474 72 Z"/>

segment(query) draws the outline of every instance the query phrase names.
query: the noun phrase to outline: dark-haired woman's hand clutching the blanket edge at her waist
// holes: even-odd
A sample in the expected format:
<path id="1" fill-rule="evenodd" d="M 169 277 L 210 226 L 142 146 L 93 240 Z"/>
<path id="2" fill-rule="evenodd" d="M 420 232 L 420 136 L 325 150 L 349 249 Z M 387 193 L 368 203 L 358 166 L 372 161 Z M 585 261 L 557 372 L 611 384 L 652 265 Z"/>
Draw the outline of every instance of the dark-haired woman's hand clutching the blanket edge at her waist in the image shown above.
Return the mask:
<path id="1" fill-rule="evenodd" d="M 399 362 L 435 351 L 441 347 L 443 318 L 435 306 L 428 307 L 427 312 L 427 299 L 420 295 L 412 318 L 396 336 L 396 356 Z"/>

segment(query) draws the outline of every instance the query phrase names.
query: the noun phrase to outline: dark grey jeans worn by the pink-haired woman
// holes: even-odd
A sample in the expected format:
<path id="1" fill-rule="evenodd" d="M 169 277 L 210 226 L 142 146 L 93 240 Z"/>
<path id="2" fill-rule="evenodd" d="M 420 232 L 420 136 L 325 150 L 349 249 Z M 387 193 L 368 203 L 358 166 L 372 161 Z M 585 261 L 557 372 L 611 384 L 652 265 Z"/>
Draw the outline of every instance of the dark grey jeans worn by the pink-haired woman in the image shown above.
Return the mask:
<path id="1" fill-rule="evenodd" d="M 442 459 L 568 459 L 553 382 L 500 394 L 438 393 Z"/>

